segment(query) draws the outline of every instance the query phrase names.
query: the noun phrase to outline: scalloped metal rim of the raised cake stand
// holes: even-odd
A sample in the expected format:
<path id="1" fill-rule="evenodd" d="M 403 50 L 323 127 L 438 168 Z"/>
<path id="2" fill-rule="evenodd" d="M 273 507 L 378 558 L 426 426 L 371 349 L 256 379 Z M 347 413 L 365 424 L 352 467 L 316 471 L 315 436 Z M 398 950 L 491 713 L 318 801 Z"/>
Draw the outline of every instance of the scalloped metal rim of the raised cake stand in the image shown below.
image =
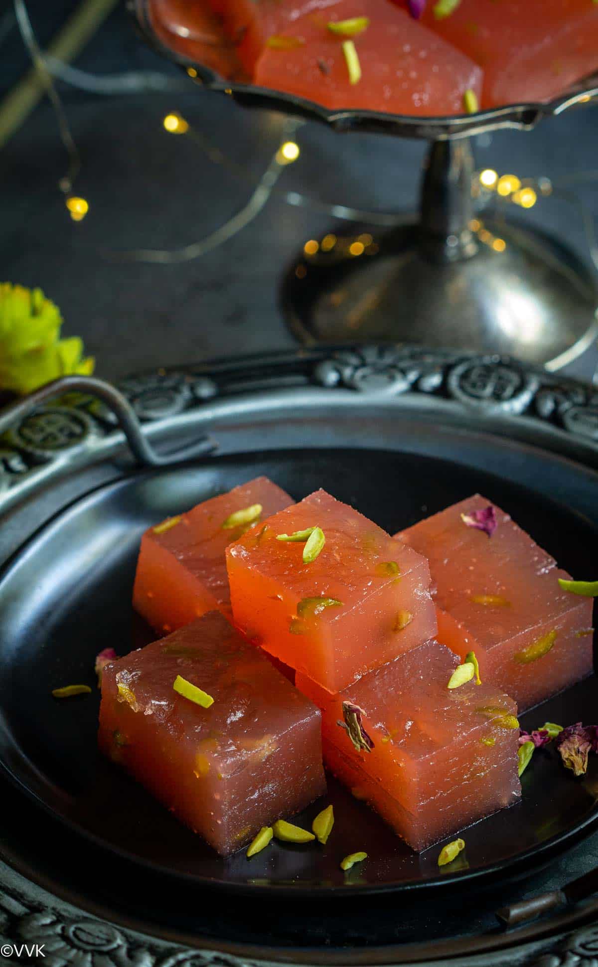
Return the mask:
<path id="1" fill-rule="evenodd" d="M 407 114 L 385 114 L 382 111 L 329 110 L 322 104 L 307 101 L 293 94 L 273 91 L 255 84 L 225 80 L 217 73 L 192 58 L 176 53 L 157 38 L 149 15 L 149 0 L 128 0 L 128 12 L 132 15 L 138 31 L 145 42 L 162 57 L 168 58 L 182 68 L 192 68 L 196 84 L 208 90 L 228 94 L 246 106 L 284 111 L 308 120 L 321 121 L 338 132 L 380 132 L 399 137 L 417 137 L 427 140 L 446 140 L 470 137 L 472 134 L 515 128 L 530 131 L 544 117 L 555 117 L 569 107 L 583 104 L 598 97 L 595 77 L 584 84 L 547 103 L 530 102 L 506 104 L 474 114 L 449 117 L 418 117 Z"/>

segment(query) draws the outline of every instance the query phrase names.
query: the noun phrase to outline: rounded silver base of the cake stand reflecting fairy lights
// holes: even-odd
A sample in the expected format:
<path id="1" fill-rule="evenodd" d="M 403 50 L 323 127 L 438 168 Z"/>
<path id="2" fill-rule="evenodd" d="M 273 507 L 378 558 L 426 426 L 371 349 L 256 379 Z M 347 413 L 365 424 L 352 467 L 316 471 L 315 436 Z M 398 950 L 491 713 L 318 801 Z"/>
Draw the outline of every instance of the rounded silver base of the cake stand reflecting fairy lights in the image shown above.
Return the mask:
<path id="1" fill-rule="evenodd" d="M 455 261 L 446 259 L 450 244 L 442 258 L 424 253 L 416 224 L 308 242 L 283 282 L 292 332 L 304 343 L 363 339 L 505 353 L 553 370 L 584 352 L 598 336 L 598 296 L 577 256 L 528 228 L 473 227 L 476 253 Z"/>

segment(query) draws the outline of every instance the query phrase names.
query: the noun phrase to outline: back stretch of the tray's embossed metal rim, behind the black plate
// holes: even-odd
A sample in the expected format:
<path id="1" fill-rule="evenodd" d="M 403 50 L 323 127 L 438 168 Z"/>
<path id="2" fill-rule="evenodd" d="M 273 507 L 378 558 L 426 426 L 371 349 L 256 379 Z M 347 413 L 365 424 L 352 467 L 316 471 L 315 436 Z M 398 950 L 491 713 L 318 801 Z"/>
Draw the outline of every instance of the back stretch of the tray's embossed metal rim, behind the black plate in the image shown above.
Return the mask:
<path id="1" fill-rule="evenodd" d="M 0 513 L 122 453 L 126 437 L 137 462 L 148 466 L 209 453 L 216 444 L 206 416 L 218 406 L 287 391 L 323 405 L 359 394 L 368 403 L 441 407 L 455 419 L 470 414 L 491 432 L 598 467 L 598 390 L 591 384 L 498 354 L 343 344 L 160 369 L 125 379 L 117 390 L 91 377 L 48 384 L 0 413 Z M 204 435 L 188 450 L 156 456 L 155 443 L 192 427 Z"/>

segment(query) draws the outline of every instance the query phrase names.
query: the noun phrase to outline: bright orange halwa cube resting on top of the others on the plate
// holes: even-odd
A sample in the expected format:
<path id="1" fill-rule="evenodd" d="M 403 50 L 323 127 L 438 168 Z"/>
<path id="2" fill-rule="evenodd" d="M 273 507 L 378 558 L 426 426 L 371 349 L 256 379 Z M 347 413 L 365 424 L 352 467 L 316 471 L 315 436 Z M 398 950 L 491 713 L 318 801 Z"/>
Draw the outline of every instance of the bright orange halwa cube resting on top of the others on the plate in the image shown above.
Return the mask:
<path id="1" fill-rule="evenodd" d="M 276 540 L 313 526 L 326 543 L 309 564 Z M 235 624 L 330 691 L 436 633 L 425 558 L 324 490 L 232 544 L 227 566 Z"/>

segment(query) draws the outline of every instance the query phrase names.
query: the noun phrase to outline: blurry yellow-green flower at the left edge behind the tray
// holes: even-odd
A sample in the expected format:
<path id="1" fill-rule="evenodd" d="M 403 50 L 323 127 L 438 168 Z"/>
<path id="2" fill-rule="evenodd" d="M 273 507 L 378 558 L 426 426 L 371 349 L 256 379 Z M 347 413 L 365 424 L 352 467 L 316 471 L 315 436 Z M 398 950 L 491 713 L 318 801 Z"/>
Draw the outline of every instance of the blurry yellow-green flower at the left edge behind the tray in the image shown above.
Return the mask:
<path id="1" fill-rule="evenodd" d="M 42 289 L 0 282 L 0 389 L 31 393 L 59 376 L 94 371 L 79 337 L 60 338 L 62 324 Z"/>

